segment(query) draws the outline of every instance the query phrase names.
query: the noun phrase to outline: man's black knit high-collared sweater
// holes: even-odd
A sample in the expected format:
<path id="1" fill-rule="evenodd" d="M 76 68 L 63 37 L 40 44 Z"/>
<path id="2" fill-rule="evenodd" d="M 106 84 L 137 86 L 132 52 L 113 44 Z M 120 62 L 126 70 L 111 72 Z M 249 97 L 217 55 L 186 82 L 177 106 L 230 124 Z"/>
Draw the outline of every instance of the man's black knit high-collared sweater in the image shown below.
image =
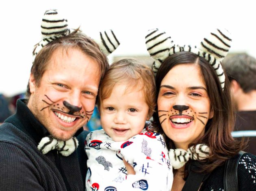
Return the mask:
<path id="1" fill-rule="evenodd" d="M 16 114 L 0 126 L 0 190 L 84 191 L 87 134 L 82 128 L 76 133 L 79 146 L 68 157 L 56 150 L 43 155 L 37 145 L 49 133 L 26 100 L 18 100 Z"/>

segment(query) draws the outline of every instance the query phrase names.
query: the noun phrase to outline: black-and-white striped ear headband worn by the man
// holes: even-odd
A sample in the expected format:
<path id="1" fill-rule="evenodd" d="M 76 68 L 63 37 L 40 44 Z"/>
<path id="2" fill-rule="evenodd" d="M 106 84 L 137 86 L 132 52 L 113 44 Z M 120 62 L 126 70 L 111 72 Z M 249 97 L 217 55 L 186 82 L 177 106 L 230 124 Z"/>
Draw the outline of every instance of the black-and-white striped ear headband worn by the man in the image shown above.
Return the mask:
<path id="1" fill-rule="evenodd" d="M 69 35 L 73 31 L 74 30 L 68 28 L 67 19 L 63 19 L 57 10 L 46 11 L 41 23 L 42 40 L 35 45 L 33 51 L 33 64 L 37 53 L 39 53 L 44 46 L 57 38 Z M 98 39 L 94 40 L 105 55 L 109 55 L 120 45 L 112 30 L 100 32 Z"/>

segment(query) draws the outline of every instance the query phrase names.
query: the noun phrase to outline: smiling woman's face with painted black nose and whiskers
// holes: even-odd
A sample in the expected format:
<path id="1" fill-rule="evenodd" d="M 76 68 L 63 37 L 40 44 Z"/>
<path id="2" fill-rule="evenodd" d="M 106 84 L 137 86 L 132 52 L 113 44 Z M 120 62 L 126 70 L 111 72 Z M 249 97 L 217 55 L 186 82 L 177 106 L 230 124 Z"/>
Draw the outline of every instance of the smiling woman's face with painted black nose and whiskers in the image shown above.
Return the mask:
<path id="1" fill-rule="evenodd" d="M 176 148 L 188 149 L 213 117 L 200 66 L 195 64 L 179 64 L 166 74 L 157 104 L 163 131 Z"/>

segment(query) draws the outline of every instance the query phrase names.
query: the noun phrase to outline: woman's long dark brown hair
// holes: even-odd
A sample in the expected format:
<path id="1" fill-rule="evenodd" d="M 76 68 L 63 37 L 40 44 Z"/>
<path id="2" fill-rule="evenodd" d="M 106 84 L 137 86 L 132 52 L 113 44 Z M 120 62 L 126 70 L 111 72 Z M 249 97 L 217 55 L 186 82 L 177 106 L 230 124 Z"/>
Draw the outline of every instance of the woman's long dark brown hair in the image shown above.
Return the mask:
<path id="1" fill-rule="evenodd" d="M 156 74 L 156 92 L 159 93 L 160 85 L 165 75 L 178 64 L 197 64 L 204 81 L 210 99 L 211 107 L 214 111 L 214 116 L 206 123 L 205 134 L 189 145 L 193 146 L 199 143 L 207 144 L 210 147 L 210 156 L 203 161 L 200 161 L 201 172 L 210 173 L 217 166 L 222 165 L 226 159 L 236 155 L 241 149 L 244 149 L 244 143 L 239 140 L 234 140 L 231 132 L 234 129 L 234 105 L 230 94 L 230 85 L 228 78 L 225 80 L 225 87 L 222 90 L 217 73 L 214 68 L 203 57 L 191 52 L 179 52 L 170 55 L 161 64 Z M 193 71 L 191 71 L 193 72 Z M 174 143 L 163 132 L 158 118 L 158 108 L 153 114 L 153 123 L 156 130 L 165 136 L 168 149 L 174 149 Z M 189 164 L 189 163 L 187 163 Z M 185 168 L 186 169 L 186 168 Z M 186 174 L 186 173 L 185 173 Z"/>

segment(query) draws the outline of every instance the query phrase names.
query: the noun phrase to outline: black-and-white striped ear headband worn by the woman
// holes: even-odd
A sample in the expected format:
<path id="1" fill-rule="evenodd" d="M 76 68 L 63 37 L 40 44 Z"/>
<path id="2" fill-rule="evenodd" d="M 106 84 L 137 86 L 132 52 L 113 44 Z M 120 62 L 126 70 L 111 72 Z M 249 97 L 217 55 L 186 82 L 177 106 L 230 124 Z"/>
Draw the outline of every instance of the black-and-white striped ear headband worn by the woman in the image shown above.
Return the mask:
<path id="1" fill-rule="evenodd" d="M 152 69 L 155 73 L 169 55 L 181 51 L 193 52 L 204 57 L 213 66 L 219 77 L 221 87 L 224 88 L 225 74 L 220 62 L 228 54 L 232 41 L 230 33 L 226 29 L 216 29 L 215 32 L 204 38 L 198 46 L 175 45 L 170 36 L 158 29 L 149 30 L 145 39 L 147 50 L 154 59 Z"/>

